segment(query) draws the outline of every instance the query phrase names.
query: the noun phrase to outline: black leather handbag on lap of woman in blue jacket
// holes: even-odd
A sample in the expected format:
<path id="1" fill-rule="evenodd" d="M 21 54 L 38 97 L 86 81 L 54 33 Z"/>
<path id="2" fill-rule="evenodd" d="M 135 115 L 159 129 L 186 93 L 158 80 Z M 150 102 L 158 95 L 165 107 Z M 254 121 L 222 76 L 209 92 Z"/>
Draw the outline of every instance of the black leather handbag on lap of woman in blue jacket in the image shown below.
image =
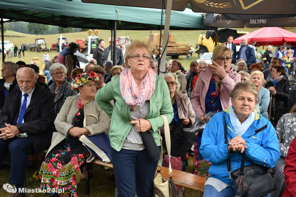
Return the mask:
<path id="1" fill-rule="evenodd" d="M 226 133 L 227 133 L 227 125 L 225 121 L 225 127 L 224 127 L 225 144 L 228 143 L 228 138 L 226 136 Z M 229 178 L 232 178 L 234 180 L 235 182 L 234 187 L 240 186 L 241 188 L 244 188 L 245 185 L 242 185 L 243 183 L 240 183 L 241 185 L 236 185 L 236 181 L 239 178 L 241 179 L 245 178 L 245 182 L 248 187 L 248 190 L 243 195 L 243 197 L 259 197 L 276 190 L 276 185 L 274 184 L 274 180 L 266 167 L 258 164 L 244 166 L 244 161 L 246 158 L 245 152 L 242 153 L 241 167 L 231 172 L 231 161 L 230 161 L 231 151 L 232 151 L 232 148 L 229 149 L 228 158 L 227 158 L 227 169 L 229 172 Z M 238 190 L 238 188 L 234 188 L 234 189 L 235 191 Z"/>

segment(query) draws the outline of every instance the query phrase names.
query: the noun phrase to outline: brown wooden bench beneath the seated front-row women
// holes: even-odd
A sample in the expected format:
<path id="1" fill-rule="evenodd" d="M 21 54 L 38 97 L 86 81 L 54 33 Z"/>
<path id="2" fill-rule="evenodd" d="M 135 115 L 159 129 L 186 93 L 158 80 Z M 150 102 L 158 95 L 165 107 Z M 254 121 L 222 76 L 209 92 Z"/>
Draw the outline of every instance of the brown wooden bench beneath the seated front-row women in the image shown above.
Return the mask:
<path id="1" fill-rule="evenodd" d="M 110 163 L 105 163 L 102 162 L 99 159 L 94 159 L 91 163 L 97 164 L 97 165 L 102 165 L 102 166 L 107 166 L 113 168 L 112 162 Z M 183 186 L 185 188 L 190 188 L 196 191 L 204 192 L 204 186 L 205 186 L 205 177 L 191 174 L 188 172 L 183 172 L 179 170 L 174 170 L 173 171 L 173 180 L 175 185 Z M 88 172 L 88 170 L 86 171 Z M 88 173 L 86 173 L 88 174 Z M 167 167 L 162 167 L 162 170 L 160 171 L 160 174 L 162 175 L 164 180 L 168 180 L 168 168 Z M 89 194 L 89 179 L 88 175 L 86 175 L 86 181 L 85 181 L 85 194 Z"/>

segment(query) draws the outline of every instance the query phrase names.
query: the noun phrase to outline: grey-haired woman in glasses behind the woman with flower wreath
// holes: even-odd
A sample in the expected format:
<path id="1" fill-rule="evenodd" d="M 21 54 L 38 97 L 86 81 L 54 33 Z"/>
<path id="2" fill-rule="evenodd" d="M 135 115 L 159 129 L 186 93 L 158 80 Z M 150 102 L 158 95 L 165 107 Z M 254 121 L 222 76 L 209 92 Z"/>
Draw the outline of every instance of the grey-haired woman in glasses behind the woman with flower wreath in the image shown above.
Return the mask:
<path id="1" fill-rule="evenodd" d="M 66 98 L 77 95 L 77 92 L 71 90 L 71 83 L 67 82 L 67 79 L 65 79 L 67 69 L 64 65 L 60 63 L 52 64 L 49 68 L 49 74 L 52 76 L 52 79 L 54 79 L 54 82 L 49 86 L 49 89 L 54 93 L 55 116 L 57 116 Z"/>

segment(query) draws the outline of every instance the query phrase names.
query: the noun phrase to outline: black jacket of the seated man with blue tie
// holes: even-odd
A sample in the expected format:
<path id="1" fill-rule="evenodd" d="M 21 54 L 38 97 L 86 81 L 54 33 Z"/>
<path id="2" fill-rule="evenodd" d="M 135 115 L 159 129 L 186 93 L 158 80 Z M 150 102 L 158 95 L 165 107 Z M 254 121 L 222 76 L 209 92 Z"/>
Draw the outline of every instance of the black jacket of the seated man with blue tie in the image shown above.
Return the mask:
<path id="1" fill-rule="evenodd" d="M 33 138 L 36 153 L 49 148 L 54 126 L 54 95 L 41 83 L 35 84 L 35 89 L 30 104 L 25 111 L 24 123 L 16 124 L 20 110 L 22 93 L 18 84 L 11 85 L 7 94 L 4 107 L 0 110 L 0 128 L 5 123 L 17 126 L 20 133 L 27 133 Z"/>

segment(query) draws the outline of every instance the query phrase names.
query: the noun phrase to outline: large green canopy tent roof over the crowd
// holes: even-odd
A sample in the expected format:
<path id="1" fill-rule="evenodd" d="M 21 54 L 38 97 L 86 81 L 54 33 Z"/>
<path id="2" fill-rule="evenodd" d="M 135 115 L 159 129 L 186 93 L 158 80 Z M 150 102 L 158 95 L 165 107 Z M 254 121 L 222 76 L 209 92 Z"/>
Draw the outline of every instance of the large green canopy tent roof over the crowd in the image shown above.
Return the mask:
<path id="1" fill-rule="evenodd" d="M 161 9 L 86 4 L 80 0 L 2 0 L 0 13 L 2 19 L 9 19 L 5 22 L 25 21 L 65 28 L 104 29 L 113 31 L 113 37 L 116 37 L 118 29 L 160 30 L 162 27 Z M 170 24 L 171 30 L 211 29 L 203 25 L 201 13 L 194 13 L 190 9 L 173 11 L 171 18 L 174 21 Z M 1 25 L 3 23 L 1 21 Z"/>

